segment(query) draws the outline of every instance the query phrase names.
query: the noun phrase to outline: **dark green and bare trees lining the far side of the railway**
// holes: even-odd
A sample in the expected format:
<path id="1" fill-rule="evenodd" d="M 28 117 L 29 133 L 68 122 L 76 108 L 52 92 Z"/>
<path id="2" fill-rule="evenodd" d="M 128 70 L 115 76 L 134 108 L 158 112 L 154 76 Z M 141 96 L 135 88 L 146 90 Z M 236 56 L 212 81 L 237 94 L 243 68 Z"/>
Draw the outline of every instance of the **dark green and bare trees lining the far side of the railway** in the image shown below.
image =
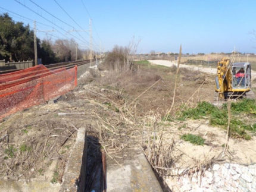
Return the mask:
<path id="1" fill-rule="evenodd" d="M 76 41 L 74 39 L 40 40 L 37 38 L 38 58 L 42 64 L 76 60 Z M 77 59 L 85 57 L 85 50 L 77 48 Z M 34 32 L 29 24 L 15 22 L 8 13 L 0 14 L 0 60 L 34 60 Z"/>

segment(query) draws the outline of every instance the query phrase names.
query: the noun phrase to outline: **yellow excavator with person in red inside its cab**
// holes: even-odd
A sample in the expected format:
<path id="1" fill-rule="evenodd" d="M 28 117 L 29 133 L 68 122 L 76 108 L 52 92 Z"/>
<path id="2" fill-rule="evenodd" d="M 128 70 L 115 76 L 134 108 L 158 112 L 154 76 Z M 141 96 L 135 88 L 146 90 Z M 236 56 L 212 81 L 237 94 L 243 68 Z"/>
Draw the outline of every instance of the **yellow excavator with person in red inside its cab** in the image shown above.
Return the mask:
<path id="1" fill-rule="evenodd" d="M 223 58 L 217 65 L 215 80 L 217 100 L 248 98 L 255 99 L 251 90 L 251 64 L 249 62 L 232 63 Z"/>

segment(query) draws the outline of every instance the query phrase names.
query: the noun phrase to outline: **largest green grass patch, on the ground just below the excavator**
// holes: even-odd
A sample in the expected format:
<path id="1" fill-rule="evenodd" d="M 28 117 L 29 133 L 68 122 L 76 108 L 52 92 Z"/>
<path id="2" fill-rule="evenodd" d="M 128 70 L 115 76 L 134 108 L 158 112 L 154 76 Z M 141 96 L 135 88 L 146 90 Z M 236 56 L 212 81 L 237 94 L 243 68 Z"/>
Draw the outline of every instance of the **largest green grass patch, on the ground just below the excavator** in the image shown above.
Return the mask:
<path id="1" fill-rule="evenodd" d="M 241 114 L 252 114 L 254 116 L 256 110 L 255 100 L 243 99 L 240 102 L 231 104 L 232 119 L 230 120 L 230 133 L 234 138 L 242 138 L 250 140 L 246 131 L 256 132 L 256 124 L 248 125 L 242 119 Z M 210 118 L 211 125 L 218 125 L 227 128 L 227 104 L 222 108 L 217 108 L 208 102 L 200 102 L 195 108 L 188 108 L 179 114 L 179 118 L 201 119 Z"/>

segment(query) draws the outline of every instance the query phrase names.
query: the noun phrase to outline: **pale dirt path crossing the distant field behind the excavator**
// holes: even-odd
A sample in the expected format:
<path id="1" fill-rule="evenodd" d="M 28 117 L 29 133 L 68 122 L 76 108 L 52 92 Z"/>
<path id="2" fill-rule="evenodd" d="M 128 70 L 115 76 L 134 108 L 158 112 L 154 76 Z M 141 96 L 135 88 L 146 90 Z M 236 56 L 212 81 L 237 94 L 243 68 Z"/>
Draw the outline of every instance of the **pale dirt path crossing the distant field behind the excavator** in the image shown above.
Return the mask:
<path id="1" fill-rule="evenodd" d="M 167 60 L 148 60 L 148 61 L 151 62 L 151 64 L 164 65 L 167 67 L 172 67 L 173 65 L 177 65 L 176 62 L 171 62 L 171 61 L 167 61 Z M 193 70 L 193 71 L 202 71 L 202 72 L 211 73 L 211 74 L 217 73 L 217 69 L 211 68 L 211 67 L 206 68 L 206 67 L 201 67 L 201 66 L 185 65 L 185 64 L 180 64 L 180 67 L 189 68 L 190 70 Z M 256 71 L 252 71 L 252 80 L 254 80 L 255 78 L 256 78 Z"/>

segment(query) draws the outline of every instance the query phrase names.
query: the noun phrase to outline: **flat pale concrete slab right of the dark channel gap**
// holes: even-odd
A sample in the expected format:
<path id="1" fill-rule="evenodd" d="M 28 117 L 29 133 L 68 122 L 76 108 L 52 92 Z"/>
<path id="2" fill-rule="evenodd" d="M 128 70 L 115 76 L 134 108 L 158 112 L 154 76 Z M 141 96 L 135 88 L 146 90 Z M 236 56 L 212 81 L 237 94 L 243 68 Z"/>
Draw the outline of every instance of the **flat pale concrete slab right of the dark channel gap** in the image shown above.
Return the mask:
<path id="1" fill-rule="evenodd" d="M 124 166 L 107 162 L 107 191 L 163 191 L 143 153 L 124 162 Z"/>

